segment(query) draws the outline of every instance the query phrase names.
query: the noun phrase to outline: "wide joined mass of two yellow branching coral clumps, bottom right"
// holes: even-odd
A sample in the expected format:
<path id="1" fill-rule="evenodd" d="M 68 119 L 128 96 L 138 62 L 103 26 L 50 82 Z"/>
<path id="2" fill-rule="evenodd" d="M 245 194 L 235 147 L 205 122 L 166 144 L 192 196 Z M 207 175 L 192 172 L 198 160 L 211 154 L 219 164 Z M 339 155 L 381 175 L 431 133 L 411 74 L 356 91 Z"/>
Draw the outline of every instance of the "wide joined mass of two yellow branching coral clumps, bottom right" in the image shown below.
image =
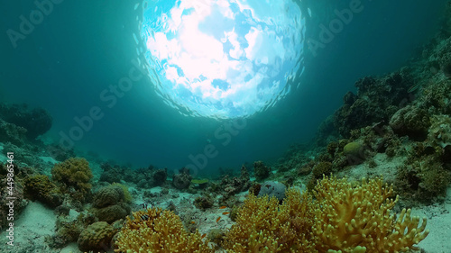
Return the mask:
<path id="1" fill-rule="evenodd" d="M 428 236 L 426 219 L 419 226 L 410 210 L 391 214 L 397 199 L 380 178 L 360 185 L 324 177 L 315 189 L 315 201 L 289 189 L 281 205 L 249 194 L 226 234 L 227 252 L 396 253 Z"/>

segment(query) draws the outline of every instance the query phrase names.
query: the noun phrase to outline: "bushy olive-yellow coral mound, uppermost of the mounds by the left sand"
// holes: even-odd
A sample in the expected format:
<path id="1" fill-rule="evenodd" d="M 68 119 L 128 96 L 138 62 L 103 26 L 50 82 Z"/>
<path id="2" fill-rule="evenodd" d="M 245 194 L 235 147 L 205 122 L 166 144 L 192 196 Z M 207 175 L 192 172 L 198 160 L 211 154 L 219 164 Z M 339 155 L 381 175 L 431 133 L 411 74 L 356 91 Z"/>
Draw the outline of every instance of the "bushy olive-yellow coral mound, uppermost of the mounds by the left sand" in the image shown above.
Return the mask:
<path id="1" fill-rule="evenodd" d="M 69 158 L 51 169 L 51 176 L 60 185 L 63 193 L 69 193 L 74 199 L 84 202 L 90 193 L 92 172 L 85 158 Z"/>

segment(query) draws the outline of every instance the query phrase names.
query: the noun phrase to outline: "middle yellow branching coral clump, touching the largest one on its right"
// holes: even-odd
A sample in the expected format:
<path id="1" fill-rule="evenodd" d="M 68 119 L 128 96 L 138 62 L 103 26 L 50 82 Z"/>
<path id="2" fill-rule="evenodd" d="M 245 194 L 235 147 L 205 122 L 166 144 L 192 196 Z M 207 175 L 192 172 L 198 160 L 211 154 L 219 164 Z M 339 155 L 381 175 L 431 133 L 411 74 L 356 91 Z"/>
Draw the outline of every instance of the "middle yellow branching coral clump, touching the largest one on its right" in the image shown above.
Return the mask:
<path id="1" fill-rule="evenodd" d="M 308 242 L 313 213 L 306 203 L 311 197 L 294 189 L 282 205 L 275 197 L 249 194 L 226 234 L 227 252 L 316 252 Z"/>

